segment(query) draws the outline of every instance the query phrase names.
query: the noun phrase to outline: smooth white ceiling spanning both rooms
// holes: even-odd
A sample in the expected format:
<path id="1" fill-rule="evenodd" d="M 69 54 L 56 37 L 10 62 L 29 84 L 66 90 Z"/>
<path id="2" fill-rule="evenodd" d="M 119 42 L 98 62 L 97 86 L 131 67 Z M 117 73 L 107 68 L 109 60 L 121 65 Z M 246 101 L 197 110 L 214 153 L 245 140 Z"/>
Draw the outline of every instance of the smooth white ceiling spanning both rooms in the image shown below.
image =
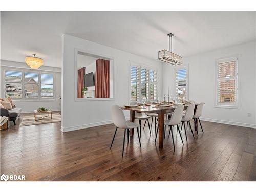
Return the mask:
<path id="1" fill-rule="evenodd" d="M 255 39 L 255 12 L 1 12 L 1 59 L 36 53 L 61 67 L 61 34 L 157 58 L 168 49 L 189 56 Z"/>

